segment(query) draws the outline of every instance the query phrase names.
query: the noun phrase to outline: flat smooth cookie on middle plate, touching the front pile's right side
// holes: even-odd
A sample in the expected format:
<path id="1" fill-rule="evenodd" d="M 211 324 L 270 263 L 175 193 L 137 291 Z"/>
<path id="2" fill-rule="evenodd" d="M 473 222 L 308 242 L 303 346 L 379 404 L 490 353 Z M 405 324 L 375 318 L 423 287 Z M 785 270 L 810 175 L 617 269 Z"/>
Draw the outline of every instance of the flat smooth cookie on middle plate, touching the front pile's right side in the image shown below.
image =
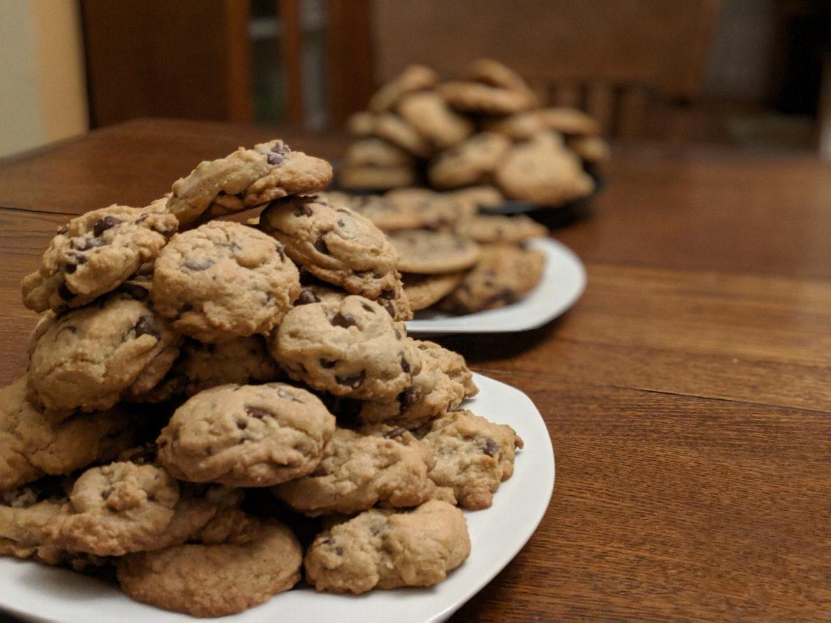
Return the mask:
<path id="1" fill-rule="evenodd" d="M 412 229 L 389 234 L 405 272 L 432 275 L 458 272 L 479 260 L 479 245 L 453 233 Z"/>

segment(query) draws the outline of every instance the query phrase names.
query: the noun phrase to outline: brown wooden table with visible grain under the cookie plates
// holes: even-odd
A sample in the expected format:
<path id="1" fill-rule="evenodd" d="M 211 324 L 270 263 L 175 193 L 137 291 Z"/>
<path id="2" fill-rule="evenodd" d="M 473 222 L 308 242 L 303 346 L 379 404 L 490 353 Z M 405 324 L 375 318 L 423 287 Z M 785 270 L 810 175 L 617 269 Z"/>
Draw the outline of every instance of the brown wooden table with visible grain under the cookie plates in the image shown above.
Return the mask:
<path id="1" fill-rule="evenodd" d="M 18 282 L 66 215 L 147 204 L 273 135 L 143 120 L 0 165 L 0 381 L 35 320 Z M 445 340 L 532 397 L 557 454 L 541 526 L 458 619 L 831 619 L 831 166 L 621 149 L 555 235 L 588 265 L 572 311 Z"/>

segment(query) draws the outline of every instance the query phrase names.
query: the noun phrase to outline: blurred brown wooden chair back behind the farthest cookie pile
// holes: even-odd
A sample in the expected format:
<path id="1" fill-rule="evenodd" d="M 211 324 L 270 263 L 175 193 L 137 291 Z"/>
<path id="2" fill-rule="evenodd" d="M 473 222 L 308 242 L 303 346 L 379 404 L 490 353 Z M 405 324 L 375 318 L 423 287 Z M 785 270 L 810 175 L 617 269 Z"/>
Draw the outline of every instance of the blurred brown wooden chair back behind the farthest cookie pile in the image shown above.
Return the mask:
<path id="1" fill-rule="evenodd" d="M 700 96 L 719 0 L 353 0 L 344 10 L 346 4 L 328 2 L 336 122 L 411 62 L 453 75 L 490 56 L 525 76 L 546 103 L 582 108 L 607 135 L 628 139 L 681 131 L 677 112 Z"/>

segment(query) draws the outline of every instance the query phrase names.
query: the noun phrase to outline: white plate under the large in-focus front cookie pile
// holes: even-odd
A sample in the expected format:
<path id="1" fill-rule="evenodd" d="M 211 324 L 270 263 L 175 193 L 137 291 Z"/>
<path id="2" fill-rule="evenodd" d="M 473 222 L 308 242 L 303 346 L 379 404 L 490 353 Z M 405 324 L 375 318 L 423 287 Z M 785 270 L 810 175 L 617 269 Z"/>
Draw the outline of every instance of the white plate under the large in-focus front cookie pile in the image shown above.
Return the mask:
<path id="1" fill-rule="evenodd" d="M 537 407 L 523 392 L 475 375 L 479 395 L 465 403 L 478 415 L 510 424 L 525 441 L 514 476 L 502 483 L 494 505 L 465 512 L 472 552 L 461 567 L 431 588 L 327 595 L 309 587 L 221 621 L 338 621 L 396 623 L 445 621 L 517 555 L 542 520 L 554 487 L 554 453 Z M 27 619 L 67 623 L 196 621 L 131 601 L 115 586 L 66 569 L 0 558 L 0 608 Z M 2 619 L 2 613 L 0 613 Z"/>

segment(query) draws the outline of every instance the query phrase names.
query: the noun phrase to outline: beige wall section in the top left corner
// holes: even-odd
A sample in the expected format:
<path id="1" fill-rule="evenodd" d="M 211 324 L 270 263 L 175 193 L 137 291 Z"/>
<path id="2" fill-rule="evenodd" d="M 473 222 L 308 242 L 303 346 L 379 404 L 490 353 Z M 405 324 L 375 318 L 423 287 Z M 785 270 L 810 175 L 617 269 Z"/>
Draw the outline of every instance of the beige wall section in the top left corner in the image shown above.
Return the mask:
<path id="1" fill-rule="evenodd" d="M 86 132 L 75 0 L 2 0 L 0 59 L 0 156 Z"/>

